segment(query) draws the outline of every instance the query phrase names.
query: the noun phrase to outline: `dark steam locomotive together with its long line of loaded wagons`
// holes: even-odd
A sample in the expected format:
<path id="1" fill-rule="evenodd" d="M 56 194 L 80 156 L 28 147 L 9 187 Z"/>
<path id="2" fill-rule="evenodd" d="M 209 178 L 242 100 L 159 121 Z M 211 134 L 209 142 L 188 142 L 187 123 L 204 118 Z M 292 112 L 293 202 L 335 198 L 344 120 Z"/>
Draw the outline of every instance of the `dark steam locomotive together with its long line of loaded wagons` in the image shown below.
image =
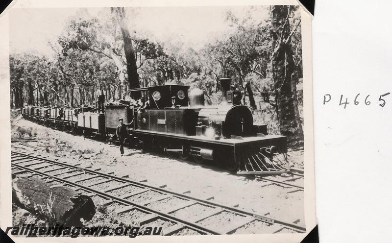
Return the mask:
<path id="1" fill-rule="evenodd" d="M 241 104 L 242 93 L 230 90 L 229 78 L 221 78 L 223 104 L 204 104 L 204 93 L 189 86 L 162 85 L 130 90 L 131 98 L 145 97 L 149 107 L 133 104 L 93 108 L 23 108 L 25 119 L 55 129 L 115 141 L 119 118 L 131 121 L 129 145 L 158 149 L 196 163 L 212 162 L 238 174 L 284 173 L 287 138 L 268 135 L 267 125 L 253 123 L 251 109 Z"/>

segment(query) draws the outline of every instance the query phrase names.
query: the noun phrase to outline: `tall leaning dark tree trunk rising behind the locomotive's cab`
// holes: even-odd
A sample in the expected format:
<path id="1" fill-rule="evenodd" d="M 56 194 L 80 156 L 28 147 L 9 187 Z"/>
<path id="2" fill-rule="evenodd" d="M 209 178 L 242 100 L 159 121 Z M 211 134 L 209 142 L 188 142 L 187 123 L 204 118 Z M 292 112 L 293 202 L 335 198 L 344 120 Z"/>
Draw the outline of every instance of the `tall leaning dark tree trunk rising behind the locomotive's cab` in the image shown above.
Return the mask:
<path id="1" fill-rule="evenodd" d="M 126 71 L 128 73 L 128 84 L 129 88 L 135 89 L 140 88 L 139 84 L 139 74 L 137 73 L 136 58 L 132 46 L 132 39 L 129 34 L 129 30 L 125 20 L 125 10 L 123 7 L 112 8 L 117 13 L 118 21 L 121 28 L 121 33 L 123 35 L 124 41 L 124 53 L 126 59 Z M 135 94 L 139 98 L 141 94 Z"/>

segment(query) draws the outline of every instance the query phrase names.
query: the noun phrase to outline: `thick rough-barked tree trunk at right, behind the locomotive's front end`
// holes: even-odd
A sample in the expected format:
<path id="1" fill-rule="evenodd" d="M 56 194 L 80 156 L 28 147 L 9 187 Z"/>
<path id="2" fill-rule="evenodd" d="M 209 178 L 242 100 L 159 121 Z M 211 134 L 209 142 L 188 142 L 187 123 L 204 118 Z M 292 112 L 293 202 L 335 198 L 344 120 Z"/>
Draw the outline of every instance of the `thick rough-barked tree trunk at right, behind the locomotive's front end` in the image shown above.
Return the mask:
<path id="1" fill-rule="evenodd" d="M 274 53 L 272 56 L 272 74 L 277 106 L 277 116 L 282 135 L 295 139 L 295 135 L 303 137 L 302 127 L 295 114 L 294 94 L 292 89 L 292 73 L 294 71 L 291 43 L 286 42 L 290 35 L 288 14 L 290 6 L 272 6 L 272 26 Z"/>

